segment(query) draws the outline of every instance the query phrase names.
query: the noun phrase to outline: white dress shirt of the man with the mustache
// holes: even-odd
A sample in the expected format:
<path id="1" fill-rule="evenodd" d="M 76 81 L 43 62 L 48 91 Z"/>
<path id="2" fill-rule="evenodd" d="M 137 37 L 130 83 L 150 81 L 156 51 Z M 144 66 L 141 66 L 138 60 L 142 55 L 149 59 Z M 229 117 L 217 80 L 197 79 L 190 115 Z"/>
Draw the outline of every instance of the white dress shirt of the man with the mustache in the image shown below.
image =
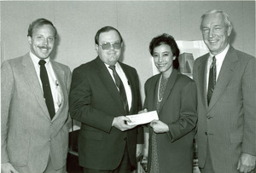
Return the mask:
<path id="1" fill-rule="evenodd" d="M 40 65 L 38 64 L 40 59 L 36 55 L 33 55 L 32 52 L 30 52 L 30 57 L 32 58 L 33 64 L 35 66 L 35 69 L 38 75 L 38 81 L 39 81 L 39 84 L 41 85 L 41 89 L 44 95 L 42 81 L 40 78 Z M 55 104 L 55 112 L 58 112 L 59 108 L 61 107 L 61 88 L 57 78 L 55 77 L 55 72 L 50 64 L 49 57 L 47 59 L 44 59 L 44 61 L 46 61 L 44 66 L 48 73 L 50 90 L 51 90 L 52 97 Z"/>

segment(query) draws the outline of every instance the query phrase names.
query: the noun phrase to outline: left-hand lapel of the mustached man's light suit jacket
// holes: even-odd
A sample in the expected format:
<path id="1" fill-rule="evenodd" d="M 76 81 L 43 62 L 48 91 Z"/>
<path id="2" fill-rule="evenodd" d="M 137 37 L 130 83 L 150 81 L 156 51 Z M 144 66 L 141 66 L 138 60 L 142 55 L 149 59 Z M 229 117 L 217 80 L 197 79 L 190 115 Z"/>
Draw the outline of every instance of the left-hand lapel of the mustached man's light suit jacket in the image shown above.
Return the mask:
<path id="1" fill-rule="evenodd" d="M 38 80 L 38 75 L 29 53 L 24 56 L 23 61 L 21 63 L 24 66 L 23 72 L 26 76 L 27 83 L 31 86 L 31 90 L 33 94 L 36 96 L 39 105 L 44 110 L 44 113 L 49 117 L 49 112 L 44 101 L 43 90 L 41 89 L 41 85 Z"/>

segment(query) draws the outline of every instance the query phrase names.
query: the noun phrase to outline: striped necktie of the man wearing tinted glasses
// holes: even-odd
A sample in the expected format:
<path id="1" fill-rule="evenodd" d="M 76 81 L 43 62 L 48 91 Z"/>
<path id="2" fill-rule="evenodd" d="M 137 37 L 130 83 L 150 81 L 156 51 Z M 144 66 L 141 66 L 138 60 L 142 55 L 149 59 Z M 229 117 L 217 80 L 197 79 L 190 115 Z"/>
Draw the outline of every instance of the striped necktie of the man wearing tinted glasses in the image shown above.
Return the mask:
<path id="1" fill-rule="evenodd" d="M 121 97 L 121 100 L 123 102 L 123 106 L 125 109 L 126 114 L 129 112 L 129 107 L 128 107 L 128 101 L 126 98 L 126 93 L 125 93 L 125 87 L 124 84 L 122 83 L 122 80 L 119 78 L 118 73 L 115 70 L 115 66 L 108 66 L 112 71 L 113 71 L 113 78 L 115 80 L 115 84 L 119 88 L 119 95 Z"/>

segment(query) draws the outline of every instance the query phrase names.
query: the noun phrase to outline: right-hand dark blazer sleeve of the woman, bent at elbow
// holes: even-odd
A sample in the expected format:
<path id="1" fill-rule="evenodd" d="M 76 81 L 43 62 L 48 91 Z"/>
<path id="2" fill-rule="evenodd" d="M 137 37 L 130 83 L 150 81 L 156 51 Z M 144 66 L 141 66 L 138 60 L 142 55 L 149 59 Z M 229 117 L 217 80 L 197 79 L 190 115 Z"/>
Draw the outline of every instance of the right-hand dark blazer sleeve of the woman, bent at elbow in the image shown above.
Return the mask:
<path id="1" fill-rule="evenodd" d="M 195 82 L 190 81 L 186 84 L 180 94 L 180 117 L 176 122 L 167 124 L 169 127 L 167 134 L 171 138 L 171 141 L 176 141 L 188 134 L 195 128 L 197 122 L 197 92 Z"/>

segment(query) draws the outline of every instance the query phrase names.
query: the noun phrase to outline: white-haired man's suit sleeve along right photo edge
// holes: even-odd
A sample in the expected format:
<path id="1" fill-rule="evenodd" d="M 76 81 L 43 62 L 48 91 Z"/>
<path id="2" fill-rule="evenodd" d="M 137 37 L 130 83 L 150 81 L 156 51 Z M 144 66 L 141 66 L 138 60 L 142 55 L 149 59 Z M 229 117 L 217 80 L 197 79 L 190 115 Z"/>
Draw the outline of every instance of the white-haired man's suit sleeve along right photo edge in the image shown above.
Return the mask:
<path id="1" fill-rule="evenodd" d="M 242 152 L 256 155 L 256 60 L 251 58 L 242 78 L 244 130 Z"/>

